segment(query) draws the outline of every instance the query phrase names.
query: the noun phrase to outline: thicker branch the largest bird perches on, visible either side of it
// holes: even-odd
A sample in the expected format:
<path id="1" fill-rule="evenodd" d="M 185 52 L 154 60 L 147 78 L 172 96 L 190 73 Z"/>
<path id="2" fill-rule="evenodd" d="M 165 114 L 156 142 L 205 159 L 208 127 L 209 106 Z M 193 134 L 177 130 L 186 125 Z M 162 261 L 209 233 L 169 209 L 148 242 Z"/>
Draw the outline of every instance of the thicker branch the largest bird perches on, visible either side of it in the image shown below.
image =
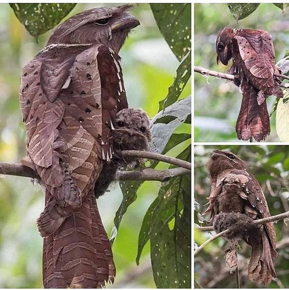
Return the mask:
<path id="1" fill-rule="evenodd" d="M 39 176 L 30 167 L 16 163 L 0 162 L 0 174 L 16 175 L 39 179 Z M 171 168 L 165 170 L 154 170 L 148 168 L 144 170 L 135 170 L 135 171 L 117 171 L 116 179 L 143 180 L 143 181 L 151 180 L 165 182 L 175 176 L 185 174 L 191 174 L 191 171 L 185 168 Z"/>

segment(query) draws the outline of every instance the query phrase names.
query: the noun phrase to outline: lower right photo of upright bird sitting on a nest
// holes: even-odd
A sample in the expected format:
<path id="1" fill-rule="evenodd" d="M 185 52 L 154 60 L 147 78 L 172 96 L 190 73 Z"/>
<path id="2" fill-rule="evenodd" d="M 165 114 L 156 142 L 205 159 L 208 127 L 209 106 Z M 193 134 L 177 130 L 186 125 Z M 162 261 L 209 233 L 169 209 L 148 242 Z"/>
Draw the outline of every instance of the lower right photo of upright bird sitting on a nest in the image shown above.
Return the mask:
<path id="1" fill-rule="evenodd" d="M 288 180 L 289 146 L 194 146 L 195 288 L 288 288 Z"/>

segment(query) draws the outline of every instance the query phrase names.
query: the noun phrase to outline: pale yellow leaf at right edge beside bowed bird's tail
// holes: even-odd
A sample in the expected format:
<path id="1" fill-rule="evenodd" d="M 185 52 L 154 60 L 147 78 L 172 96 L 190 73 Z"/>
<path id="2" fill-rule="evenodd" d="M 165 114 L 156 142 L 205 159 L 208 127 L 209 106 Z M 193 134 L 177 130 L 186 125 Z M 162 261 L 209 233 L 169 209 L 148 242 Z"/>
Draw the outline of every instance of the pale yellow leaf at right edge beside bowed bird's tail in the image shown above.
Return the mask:
<path id="1" fill-rule="evenodd" d="M 289 89 L 278 102 L 276 109 L 276 132 L 281 142 L 289 142 Z"/>

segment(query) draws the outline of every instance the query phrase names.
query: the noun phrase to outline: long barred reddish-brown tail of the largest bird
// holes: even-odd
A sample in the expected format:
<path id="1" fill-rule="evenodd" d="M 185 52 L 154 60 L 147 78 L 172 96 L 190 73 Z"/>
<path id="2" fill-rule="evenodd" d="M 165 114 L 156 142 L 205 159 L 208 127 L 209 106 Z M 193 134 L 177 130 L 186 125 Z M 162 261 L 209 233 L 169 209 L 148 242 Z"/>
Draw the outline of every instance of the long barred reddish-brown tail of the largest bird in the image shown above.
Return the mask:
<path id="1" fill-rule="evenodd" d="M 112 280 L 112 250 L 94 199 L 89 192 L 81 207 L 44 239 L 45 288 L 101 288 Z"/>

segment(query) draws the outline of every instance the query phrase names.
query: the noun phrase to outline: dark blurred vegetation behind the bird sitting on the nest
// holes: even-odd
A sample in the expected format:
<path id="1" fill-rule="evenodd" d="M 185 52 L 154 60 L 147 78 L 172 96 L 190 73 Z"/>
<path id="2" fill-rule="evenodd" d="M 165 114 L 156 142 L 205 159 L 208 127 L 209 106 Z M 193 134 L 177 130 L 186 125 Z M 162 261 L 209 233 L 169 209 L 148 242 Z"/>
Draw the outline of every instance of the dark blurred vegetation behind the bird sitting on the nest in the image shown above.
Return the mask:
<path id="1" fill-rule="evenodd" d="M 229 150 L 246 161 L 248 171 L 254 174 L 260 183 L 267 199 L 271 215 L 289 211 L 289 148 L 281 145 L 255 146 L 195 146 L 194 148 L 194 222 L 206 226 L 202 213 L 207 206 L 210 182 L 206 164 L 213 150 Z M 197 225 L 195 225 L 197 226 Z M 278 257 L 275 260 L 277 278 L 267 288 L 289 288 L 289 226 L 288 221 L 280 220 L 274 224 L 276 231 Z M 201 232 L 195 228 L 194 240 L 197 245 L 203 244 L 211 237 L 210 232 Z M 239 242 L 238 267 L 240 288 L 263 288 L 248 279 L 248 261 L 250 246 Z M 196 246 L 196 245 L 195 245 Z M 195 257 L 196 288 L 235 288 L 234 274 L 230 274 L 225 265 L 225 248 L 223 238 L 215 240 Z"/>

